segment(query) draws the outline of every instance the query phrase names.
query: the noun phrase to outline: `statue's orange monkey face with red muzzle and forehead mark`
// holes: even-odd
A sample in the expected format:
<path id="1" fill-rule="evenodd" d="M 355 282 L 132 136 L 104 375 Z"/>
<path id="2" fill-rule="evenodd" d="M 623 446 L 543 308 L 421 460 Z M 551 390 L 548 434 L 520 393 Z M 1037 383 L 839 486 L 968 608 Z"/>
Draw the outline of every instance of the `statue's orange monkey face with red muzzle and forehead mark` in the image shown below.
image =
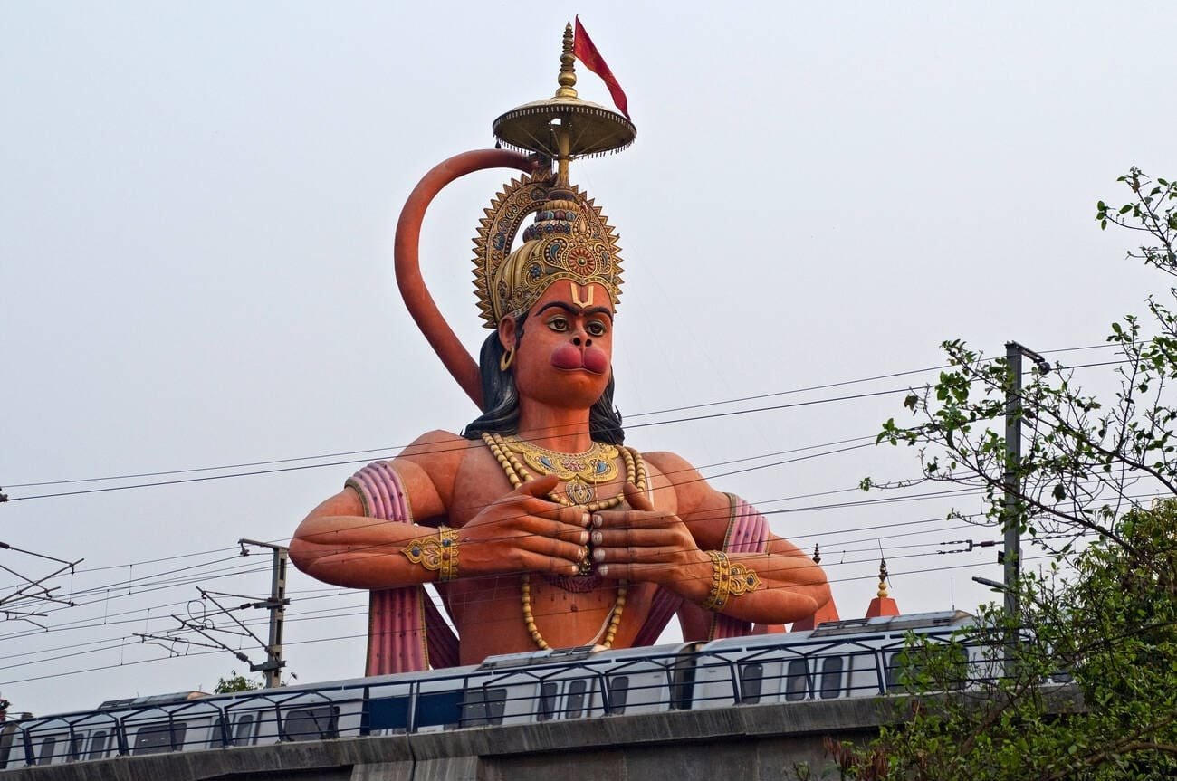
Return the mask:
<path id="1" fill-rule="evenodd" d="M 613 302 L 600 285 L 557 280 L 528 311 L 523 339 L 511 318 L 499 323 L 499 339 L 517 351 L 512 371 L 520 396 L 587 409 L 609 383 Z"/>

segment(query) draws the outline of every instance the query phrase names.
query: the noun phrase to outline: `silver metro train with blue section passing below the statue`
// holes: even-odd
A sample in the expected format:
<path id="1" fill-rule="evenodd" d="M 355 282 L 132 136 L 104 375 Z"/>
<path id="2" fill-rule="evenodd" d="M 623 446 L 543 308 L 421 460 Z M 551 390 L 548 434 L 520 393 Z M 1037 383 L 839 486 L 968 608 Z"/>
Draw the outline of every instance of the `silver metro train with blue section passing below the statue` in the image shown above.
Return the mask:
<path id="1" fill-rule="evenodd" d="M 115 700 L 93 710 L 5 722 L 0 770 L 280 741 L 878 696 L 906 690 L 900 670 L 907 633 L 947 642 L 972 625 L 963 612 L 850 619 L 790 634 L 537 650 L 423 673 Z M 963 680 L 999 673 L 999 648 L 963 648 Z"/>

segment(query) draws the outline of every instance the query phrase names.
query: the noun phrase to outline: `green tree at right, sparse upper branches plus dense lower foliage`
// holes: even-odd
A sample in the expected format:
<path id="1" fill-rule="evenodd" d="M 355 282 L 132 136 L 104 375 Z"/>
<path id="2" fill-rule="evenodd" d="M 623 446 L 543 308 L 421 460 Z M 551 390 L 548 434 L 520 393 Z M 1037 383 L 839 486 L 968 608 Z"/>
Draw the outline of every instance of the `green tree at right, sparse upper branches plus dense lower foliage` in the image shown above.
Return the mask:
<path id="1" fill-rule="evenodd" d="M 1143 241 L 1129 259 L 1177 275 L 1177 185 L 1137 168 L 1119 181 L 1129 200 L 1100 201 L 1100 228 L 1137 233 Z M 1010 368 L 962 341 L 943 345 L 950 366 L 938 381 L 906 398 L 913 422 L 884 425 L 880 442 L 918 449 L 922 480 L 979 487 L 984 522 L 1016 523 L 1050 566 L 1022 576 L 1018 615 L 982 608 L 979 628 L 962 638 L 1004 648 L 1006 674 L 962 670 L 959 649 L 912 641 L 915 688 L 926 694 L 907 699 L 904 723 L 870 748 L 831 746 L 844 775 L 1177 777 L 1173 298 L 1170 288 L 1148 299 L 1146 318 L 1112 323 L 1112 396 L 1085 393 L 1063 366 L 1029 379 L 1020 462 L 1000 434 L 1016 387 Z M 1004 501 L 1010 474 L 1012 507 Z M 962 672 L 971 679 L 964 692 Z M 1077 687 L 1056 685 L 1063 674 Z"/>

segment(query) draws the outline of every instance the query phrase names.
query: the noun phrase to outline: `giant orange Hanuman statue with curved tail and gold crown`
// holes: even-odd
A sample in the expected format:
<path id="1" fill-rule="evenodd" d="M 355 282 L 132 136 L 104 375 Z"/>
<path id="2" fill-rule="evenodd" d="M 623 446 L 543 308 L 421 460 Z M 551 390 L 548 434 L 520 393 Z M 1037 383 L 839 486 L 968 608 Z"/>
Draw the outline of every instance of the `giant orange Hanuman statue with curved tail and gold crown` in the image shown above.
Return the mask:
<path id="1" fill-rule="evenodd" d="M 554 98 L 494 122 L 501 142 L 537 155 L 447 160 L 397 228 L 406 306 L 483 415 L 461 435 L 431 432 L 365 467 L 291 541 L 304 572 L 372 589 L 368 674 L 650 645 L 676 612 L 685 636 L 739 634 L 830 601 L 822 569 L 751 506 L 674 454 L 623 445 L 612 405 L 617 236 L 567 169 L 629 146 L 636 131 L 577 96 L 572 51 L 570 28 Z M 432 198 L 487 167 L 527 175 L 492 202 L 476 239 L 479 306 L 494 329 L 476 365 L 424 287 L 417 245 Z M 435 585 L 457 634 L 424 583 Z"/>

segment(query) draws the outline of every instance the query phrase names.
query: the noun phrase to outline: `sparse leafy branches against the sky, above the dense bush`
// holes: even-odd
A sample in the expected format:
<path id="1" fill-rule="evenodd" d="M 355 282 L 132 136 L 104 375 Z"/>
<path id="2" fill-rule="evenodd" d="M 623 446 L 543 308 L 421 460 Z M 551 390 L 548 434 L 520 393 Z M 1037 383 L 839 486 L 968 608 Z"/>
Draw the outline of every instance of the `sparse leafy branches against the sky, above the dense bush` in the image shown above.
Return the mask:
<path id="1" fill-rule="evenodd" d="M 1129 258 L 1177 275 L 1177 183 L 1153 182 L 1136 168 L 1119 181 L 1133 193 L 1132 202 L 1113 208 L 1100 201 L 1096 219 L 1143 231 L 1153 243 Z M 1062 365 L 1033 373 L 1018 394 L 1023 454 L 1011 521 L 1053 553 L 1065 556 L 1080 536 L 1115 538 L 1115 521 L 1125 512 L 1177 495 L 1177 405 L 1169 393 L 1177 379 L 1177 314 L 1157 298 L 1148 307 L 1155 335 L 1146 335 L 1133 315 L 1111 326 L 1108 341 L 1119 353 L 1113 399 L 1086 394 Z M 900 426 L 891 419 L 878 440 L 918 447 L 923 480 L 983 488 L 985 519 L 1002 521 L 1009 514 L 1006 472 L 1015 465 L 996 427 L 1012 388 L 1010 367 L 1004 358 L 988 359 L 959 340 L 943 348 L 950 368 L 904 401 L 917 422 Z M 889 486 L 865 480 L 864 487 Z"/>

